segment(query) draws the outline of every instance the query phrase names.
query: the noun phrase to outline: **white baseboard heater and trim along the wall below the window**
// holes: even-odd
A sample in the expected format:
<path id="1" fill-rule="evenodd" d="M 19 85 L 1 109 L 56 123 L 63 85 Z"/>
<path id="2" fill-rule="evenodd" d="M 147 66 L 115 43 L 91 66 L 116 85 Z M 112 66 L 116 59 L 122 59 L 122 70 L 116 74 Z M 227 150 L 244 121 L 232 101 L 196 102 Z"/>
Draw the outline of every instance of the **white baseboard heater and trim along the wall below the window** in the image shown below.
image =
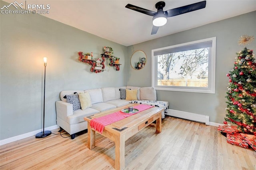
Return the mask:
<path id="1" fill-rule="evenodd" d="M 215 123 L 215 122 L 209 122 L 209 120 L 210 120 L 209 116 L 202 115 L 202 114 L 190 113 L 190 112 L 184 112 L 184 111 L 180 111 L 180 110 L 168 109 L 167 115 L 174 116 L 177 118 L 197 121 L 197 122 L 203 122 L 206 125 L 210 125 L 210 126 L 223 125 L 223 124 L 219 124 L 219 123 Z"/>

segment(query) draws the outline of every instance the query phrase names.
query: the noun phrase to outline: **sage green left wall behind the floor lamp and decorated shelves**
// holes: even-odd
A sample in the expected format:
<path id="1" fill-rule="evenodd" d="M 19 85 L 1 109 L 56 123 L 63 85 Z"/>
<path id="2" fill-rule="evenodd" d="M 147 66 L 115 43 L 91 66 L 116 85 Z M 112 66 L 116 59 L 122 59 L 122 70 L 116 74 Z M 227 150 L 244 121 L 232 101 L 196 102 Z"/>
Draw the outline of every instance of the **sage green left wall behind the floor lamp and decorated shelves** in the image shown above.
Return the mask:
<path id="1" fill-rule="evenodd" d="M 77 52 L 93 52 L 96 58 L 103 46 L 120 58 L 120 71 L 110 67 L 96 74 L 78 61 Z M 126 46 L 42 15 L 0 14 L 0 55 L 0 140 L 42 128 L 45 56 L 45 127 L 56 125 L 60 91 L 127 84 Z"/>

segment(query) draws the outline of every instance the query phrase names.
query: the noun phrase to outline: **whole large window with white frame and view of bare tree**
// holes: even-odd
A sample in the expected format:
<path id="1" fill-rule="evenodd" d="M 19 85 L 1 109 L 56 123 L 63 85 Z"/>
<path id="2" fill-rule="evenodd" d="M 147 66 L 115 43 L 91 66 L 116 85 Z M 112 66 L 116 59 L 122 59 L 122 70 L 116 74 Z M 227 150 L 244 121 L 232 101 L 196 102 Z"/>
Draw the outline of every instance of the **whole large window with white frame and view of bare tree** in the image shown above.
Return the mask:
<path id="1" fill-rule="evenodd" d="M 216 37 L 152 50 L 156 90 L 215 93 Z"/>

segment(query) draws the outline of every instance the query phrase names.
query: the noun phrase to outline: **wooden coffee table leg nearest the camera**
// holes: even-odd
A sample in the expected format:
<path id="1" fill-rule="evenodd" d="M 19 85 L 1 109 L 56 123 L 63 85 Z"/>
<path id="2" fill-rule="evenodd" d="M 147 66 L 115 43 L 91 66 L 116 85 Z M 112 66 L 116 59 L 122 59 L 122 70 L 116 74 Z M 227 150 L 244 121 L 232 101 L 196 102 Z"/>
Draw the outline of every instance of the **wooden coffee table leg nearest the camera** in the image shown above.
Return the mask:
<path id="1" fill-rule="evenodd" d="M 124 152 L 125 152 L 125 140 L 124 135 L 116 136 L 116 160 L 115 160 L 115 166 L 116 170 L 123 170 L 125 166 L 125 160 L 124 160 Z"/>

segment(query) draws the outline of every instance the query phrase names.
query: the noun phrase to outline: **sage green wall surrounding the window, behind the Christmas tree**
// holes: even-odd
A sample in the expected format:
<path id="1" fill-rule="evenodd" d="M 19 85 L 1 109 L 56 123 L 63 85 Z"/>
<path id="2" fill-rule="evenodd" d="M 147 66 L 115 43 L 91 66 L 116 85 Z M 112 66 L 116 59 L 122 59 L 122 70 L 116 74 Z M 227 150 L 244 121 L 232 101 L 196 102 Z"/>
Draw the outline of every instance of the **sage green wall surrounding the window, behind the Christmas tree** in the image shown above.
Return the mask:
<path id="1" fill-rule="evenodd" d="M 226 114 L 225 102 L 227 100 L 225 96 L 228 86 L 226 74 L 234 67 L 236 52 L 243 49 L 242 46 L 238 46 L 238 38 L 244 34 L 256 36 L 255 18 L 256 11 L 129 46 L 128 60 L 130 60 L 133 52 L 142 50 L 147 55 L 147 64 L 142 70 L 134 70 L 128 63 L 127 84 L 141 87 L 151 86 L 152 49 L 216 36 L 215 94 L 161 90 L 157 90 L 156 94 L 158 100 L 165 100 L 170 103 L 170 109 L 208 115 L 210 122 L 223 123 Z M 158 31 L 161 29 L 164 28 L 159 28 Z M 256 50 L 256 40 L 248 48 Z"/>

